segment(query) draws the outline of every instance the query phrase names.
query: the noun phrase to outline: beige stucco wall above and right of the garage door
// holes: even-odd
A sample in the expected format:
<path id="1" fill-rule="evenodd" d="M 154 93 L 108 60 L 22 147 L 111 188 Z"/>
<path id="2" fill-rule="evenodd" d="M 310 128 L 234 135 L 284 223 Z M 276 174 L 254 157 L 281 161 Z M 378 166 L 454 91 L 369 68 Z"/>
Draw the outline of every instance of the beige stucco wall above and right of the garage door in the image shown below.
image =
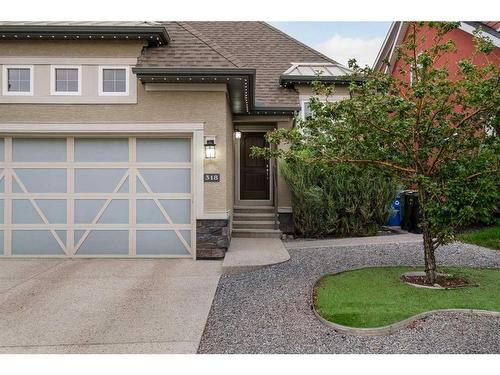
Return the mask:
<path id="1" fill-rule="evenodd" d="M 205 172 L 217 172 L 220 183 L 205 183 L 205 211 L 225 212 L 232 174 L 227 161 L 228 128 L 232 127 L 226 93 L 146 91 L 137 87 L 137 104 L 0 104 L 1 123 L 204 123 L 205 135 L 216 136 L 217 157 L 205 160 Z M 228 123 L 229 122 L 229 123 Z M 231 138 L 229 139 L 231 142 Z M 232 155 L 230 156 L 232 158 Z M 231 184 L 231 185 L 229 185 Z"/>

